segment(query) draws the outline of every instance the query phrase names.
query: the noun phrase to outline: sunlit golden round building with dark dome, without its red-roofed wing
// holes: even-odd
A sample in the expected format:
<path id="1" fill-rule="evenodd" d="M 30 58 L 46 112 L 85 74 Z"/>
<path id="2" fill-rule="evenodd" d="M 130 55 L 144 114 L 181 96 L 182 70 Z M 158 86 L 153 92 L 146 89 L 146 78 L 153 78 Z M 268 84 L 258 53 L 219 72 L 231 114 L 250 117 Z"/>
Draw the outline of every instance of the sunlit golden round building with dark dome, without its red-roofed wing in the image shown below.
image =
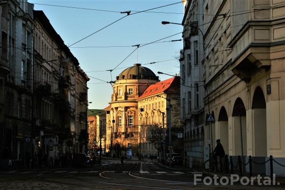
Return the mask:
<path id="1" fill-rule="evenodd" d="M 113 86 L 113 94 L 107 111 L 106 147 L 111 154 L 119 156 L 132 150 L 138 153 L 139 109 L 136 98 L 152 84 L 159 82 L 158 76 L 141 64 L 123 70 Z"/>

